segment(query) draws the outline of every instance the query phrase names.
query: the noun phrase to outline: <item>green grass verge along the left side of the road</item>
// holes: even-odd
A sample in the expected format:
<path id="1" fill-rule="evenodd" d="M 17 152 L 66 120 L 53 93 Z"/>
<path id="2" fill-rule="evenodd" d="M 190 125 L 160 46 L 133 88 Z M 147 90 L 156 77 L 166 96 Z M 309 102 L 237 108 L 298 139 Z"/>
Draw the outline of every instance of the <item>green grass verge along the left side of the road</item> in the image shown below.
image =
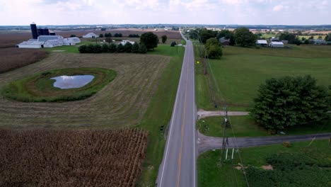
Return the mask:
<path id="1" fill-rule="evenodd" d="M 151 99 L 144 118 L 137 126 L 149 132 L 149 145 L 138 186 L 155 186 L 165 147 L 165 138 L 161 134 L 160 127 L 164 125 L 165 130 L 170 122 L 184 52 L 184 47 L 178 47 L 177 53 L 176 47 L 169 45 L 158 45 L 155 50 L 149 52 L 154 55 L 170 56 L 171 60 L 162 74 L 156 94 Z"/>

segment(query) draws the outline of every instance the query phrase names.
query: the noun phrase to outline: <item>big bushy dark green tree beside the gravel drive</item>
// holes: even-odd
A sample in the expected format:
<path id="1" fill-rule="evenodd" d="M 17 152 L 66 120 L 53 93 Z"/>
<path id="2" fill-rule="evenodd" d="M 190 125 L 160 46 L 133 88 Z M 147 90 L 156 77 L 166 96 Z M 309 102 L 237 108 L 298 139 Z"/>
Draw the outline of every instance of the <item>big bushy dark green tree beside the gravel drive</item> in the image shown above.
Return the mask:
<path id="1" fill-rule="evenodd" d="M 330 91 L 309 75 L 272 78 L 260 86 L 251 115 L 265 128 L 282 130 L 323 121 L 329 103 Z"/>

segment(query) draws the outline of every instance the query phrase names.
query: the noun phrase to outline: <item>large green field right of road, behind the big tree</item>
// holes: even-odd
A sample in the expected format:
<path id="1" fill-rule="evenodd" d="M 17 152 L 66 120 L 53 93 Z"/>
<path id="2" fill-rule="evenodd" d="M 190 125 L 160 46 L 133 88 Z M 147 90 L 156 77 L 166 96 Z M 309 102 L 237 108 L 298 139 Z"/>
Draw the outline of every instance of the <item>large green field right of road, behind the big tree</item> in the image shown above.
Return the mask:
<path id="1" fill-rule="evenodd" d="M 295 46 L 289 49 L 223 48 L 221 60 L 209 60 L 220 92 L 216 100 L 223 97 L 230 110 L 245 111 L 252 105 L 260 84 L 266 79 L 281 76 L 303 76 L 310 74 L 319 85 L 329 86 L 331 80 L 331 46 Z M 211 103 L 208 81 L 202 74 L 202 64 L 197 67 L 197 106 L 204 110 L 215 110 Z M 216 86 L 214 86 L 216 88 Z M 223 106 L 220 106 L 220 108 Z"/>

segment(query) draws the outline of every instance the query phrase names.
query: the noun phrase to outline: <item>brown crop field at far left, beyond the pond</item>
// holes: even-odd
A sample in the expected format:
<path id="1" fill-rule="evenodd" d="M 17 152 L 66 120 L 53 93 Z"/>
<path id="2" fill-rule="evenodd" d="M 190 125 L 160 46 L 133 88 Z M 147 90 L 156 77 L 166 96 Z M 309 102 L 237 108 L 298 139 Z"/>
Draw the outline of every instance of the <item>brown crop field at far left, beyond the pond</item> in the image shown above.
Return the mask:
<path id="1" fill-rule="evenodd" d="M 47 57 L 45 50 L 0 48 L 0 73 L 33 64 Z"/>

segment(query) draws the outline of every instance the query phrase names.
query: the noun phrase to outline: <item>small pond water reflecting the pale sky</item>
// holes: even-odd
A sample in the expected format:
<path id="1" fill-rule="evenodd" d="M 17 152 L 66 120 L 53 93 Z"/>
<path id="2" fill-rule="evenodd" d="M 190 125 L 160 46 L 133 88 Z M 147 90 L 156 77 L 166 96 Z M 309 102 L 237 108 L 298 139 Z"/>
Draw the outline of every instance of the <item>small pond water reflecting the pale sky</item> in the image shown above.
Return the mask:
<path id="1" fill-rule="evenodd" d="M 67 76 L 62 75 L 59 77 L 52 77 L 51 79 L 56 80 L 53 84 L 54 87 L 59 89 L 78 89 L 86 84 L 90 83 L 94 76 L 92 75 L 74 75 L 74 76 Z"/>

